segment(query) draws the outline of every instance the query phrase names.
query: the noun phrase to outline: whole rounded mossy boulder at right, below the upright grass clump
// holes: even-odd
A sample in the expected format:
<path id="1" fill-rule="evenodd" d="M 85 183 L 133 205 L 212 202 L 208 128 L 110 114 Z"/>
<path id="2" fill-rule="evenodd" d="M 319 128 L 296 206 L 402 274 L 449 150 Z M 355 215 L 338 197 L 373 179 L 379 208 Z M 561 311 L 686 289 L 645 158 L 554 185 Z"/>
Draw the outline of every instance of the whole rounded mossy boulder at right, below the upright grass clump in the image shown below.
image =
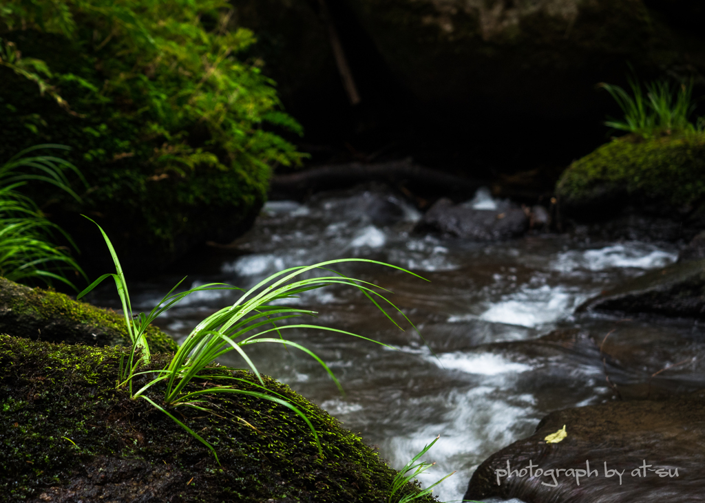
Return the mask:
<path id="1" fill-rule="evenodd" d="M 705 134 L 613 139 L 573 162 L 556 194 L 575 221 L 667 218 L 681 228 L 675 238 L 690 239 L 705 224 Z"/>

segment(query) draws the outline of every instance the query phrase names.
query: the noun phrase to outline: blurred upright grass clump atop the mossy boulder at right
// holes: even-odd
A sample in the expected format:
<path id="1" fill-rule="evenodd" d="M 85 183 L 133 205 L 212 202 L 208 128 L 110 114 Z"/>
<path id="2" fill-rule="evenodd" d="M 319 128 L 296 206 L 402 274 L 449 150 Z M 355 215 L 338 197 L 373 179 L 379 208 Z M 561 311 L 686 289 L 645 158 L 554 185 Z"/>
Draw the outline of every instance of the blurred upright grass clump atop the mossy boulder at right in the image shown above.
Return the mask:
<path id="1" fill-rule="evenodd" d="M 622 120 L 611 118 L 605 125 L 643 137 L 705 130 L 705 117 L 690 121 L 696 108 L 692 82 L 671 85 L 666 80 L 656 80 L 645 85 L 646 93 L 636 78 L 630 77 L 628 82 L 631 94 L 618 85 L 599 84 L 624 113 Z"/>

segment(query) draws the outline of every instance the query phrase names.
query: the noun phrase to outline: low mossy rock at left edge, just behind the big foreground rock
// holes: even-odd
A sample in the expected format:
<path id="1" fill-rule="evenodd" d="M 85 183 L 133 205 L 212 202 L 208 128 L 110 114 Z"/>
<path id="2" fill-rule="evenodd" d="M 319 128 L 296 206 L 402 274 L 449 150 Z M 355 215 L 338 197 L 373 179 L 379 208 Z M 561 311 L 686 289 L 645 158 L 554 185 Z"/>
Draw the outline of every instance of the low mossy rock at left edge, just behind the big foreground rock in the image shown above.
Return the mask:
<path id="1" fill-rule="evenodd" d="M 68 295 L 30 288 L 0 278 L 0 333 L 50 342 L 130 346 L 125 318 Z M 145 333 L 152 352 L 176 352 L 176 342 L 150 325 Z"/>

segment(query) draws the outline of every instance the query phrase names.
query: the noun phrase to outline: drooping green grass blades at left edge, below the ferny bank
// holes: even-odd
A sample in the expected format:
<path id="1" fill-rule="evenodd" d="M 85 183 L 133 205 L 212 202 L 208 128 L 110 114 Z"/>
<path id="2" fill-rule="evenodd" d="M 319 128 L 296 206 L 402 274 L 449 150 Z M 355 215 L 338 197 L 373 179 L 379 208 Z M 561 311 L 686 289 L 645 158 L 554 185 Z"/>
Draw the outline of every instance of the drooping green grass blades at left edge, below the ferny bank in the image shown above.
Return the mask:
<path id="1" fill-rule="evenodd" d="M 75 166 L 56 156 L 27 155 L 46 149 L 66 147 L 37 145 L 0 166 L 0 275 L 20 282 L 42 280 L 48 285 L 52 279 L 59 280 L 76 290 L 67 275 L 83 271 L 68 249 L 53 244 L 57 234 L 68 242 L 71 238 L 47 220 L 35 201 L 18 192 L 27 182 L 46 182 L 78 199 L 64 173 L 73 171 L 80 176 Z"/>

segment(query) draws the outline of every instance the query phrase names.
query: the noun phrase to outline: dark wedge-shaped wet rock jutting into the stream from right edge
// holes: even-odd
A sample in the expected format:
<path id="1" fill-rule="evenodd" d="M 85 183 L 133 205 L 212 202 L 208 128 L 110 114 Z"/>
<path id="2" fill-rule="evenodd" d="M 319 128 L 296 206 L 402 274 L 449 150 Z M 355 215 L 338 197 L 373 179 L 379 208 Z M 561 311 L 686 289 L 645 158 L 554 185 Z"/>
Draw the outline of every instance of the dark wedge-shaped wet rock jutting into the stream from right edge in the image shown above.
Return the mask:
<path id="1" fill-rule="evenodd" d="M 705 319 L 705 259 L 649 271 L 577 309 Z"/>

